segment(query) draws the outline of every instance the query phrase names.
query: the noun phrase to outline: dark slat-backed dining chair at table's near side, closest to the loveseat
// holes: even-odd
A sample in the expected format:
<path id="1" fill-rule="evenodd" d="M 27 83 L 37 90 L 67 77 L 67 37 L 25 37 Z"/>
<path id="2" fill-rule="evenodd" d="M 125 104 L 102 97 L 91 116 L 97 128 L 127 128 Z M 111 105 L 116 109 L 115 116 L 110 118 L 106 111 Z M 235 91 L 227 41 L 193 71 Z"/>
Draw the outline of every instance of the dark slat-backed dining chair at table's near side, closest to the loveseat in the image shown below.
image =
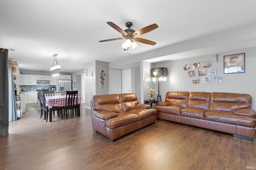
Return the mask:
<path id="1" fill-rule="evenodd" d="M 64 115 L 66 113 L 66 119 L 68 115 L 68 110 L 70 110 L 71 113 L 75 113 L 77 115 L 77 108 L 78 108 L 78 91 L 66 91 L 66 105 L 64 109 Z"/>

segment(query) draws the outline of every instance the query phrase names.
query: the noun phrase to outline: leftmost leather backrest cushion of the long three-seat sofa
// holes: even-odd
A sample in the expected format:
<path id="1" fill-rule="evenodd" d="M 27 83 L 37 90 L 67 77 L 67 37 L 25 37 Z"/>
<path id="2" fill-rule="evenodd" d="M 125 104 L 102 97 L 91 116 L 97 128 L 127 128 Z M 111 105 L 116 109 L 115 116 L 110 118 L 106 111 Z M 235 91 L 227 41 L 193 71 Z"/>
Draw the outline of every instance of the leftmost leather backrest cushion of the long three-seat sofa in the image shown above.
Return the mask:
<path id="1" fill-rule="evenodd" d="M 174 106 L 188 106 L 189 92 L 166 92 L 165 102 Z"/>

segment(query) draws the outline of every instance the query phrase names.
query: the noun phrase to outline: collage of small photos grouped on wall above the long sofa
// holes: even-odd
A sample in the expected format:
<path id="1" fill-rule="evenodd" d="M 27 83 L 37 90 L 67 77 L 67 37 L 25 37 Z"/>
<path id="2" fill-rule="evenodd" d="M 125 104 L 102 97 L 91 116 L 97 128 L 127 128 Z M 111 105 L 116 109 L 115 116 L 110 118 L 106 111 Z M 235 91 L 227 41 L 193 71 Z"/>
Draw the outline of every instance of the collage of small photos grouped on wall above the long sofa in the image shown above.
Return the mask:
<path id="1" fill-rule="evenodd" d="M 202 64 L 193 63 L 190 70 L 190 64 L 184 64 L 183 70 L 188 71 L 188 77 L 192 77 L 192 84 L 222 83 L 222 76 L 217 76 L 217 69 L 211 67 L 211 61 L 204 61 Z"/>

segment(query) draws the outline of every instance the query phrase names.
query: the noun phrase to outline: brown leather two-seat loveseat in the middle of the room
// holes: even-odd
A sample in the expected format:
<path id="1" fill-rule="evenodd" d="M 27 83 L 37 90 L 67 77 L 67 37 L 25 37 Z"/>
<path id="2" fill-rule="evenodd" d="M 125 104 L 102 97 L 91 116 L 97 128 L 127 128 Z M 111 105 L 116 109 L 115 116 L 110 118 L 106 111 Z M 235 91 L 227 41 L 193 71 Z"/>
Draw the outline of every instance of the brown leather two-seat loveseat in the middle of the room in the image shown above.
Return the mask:
<path id="1" fill-rule="evenodd" d="M 155 123 L 156 109 L 139 104 L 133 93 L 96 95 L 91 100 L 92 128 L 115 141 L 146 125 Z"/>

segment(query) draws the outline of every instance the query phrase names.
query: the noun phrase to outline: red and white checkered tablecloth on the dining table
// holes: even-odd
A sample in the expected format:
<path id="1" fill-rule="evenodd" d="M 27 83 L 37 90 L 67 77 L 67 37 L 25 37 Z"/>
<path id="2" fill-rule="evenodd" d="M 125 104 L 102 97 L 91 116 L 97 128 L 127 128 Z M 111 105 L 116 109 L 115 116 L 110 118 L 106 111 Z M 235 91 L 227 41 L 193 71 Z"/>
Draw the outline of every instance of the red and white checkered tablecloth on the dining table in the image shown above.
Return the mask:
<path id="1" fill-rule="evenodd" d="M 62 96 L 45 96 L 46 106 L 52 107 L 64 107 L 66 102 L 66 95 Z M 78 96 L 77 102 L 80 104 L 81 96 Z"/>

